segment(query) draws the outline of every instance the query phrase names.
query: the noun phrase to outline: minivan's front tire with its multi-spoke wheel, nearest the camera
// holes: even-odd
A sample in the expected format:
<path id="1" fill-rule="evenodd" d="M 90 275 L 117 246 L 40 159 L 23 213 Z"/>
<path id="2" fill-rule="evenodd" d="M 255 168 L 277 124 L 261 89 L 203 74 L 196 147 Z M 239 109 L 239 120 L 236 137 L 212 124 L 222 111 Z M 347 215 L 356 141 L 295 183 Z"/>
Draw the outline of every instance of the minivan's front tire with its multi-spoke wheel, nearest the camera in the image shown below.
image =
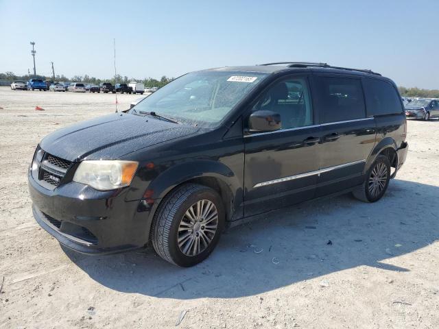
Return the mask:
<path id="1" fill-rule="evenodd" d="M 202 221 L 195 221 L 195 223 L 191 221 L 189 223 L 189 217 L 187 217 L 192 207 L 195 207 L 193 208 L 192 215 L 197 217 L 195 213 L 199 205 L 198 202 L 203 202 L 206 205 L 206 208 L 202 208 L 204 210 L 208 206 L 213 207 L 209 208 L 209 212 L 205 215 L 213 219 L 204 223 L 205 226 Z M 205 217 L 204 220 L 206 220 Z M 152 220 L 150 238 L 158 256 L 161 256 L 161 258 L 171 264 L 191 267 L 201 263 L 215 249 L 219 236 L 224 229 L 224 222 L 224 206 L 221 197 L 219 197 L 216 191 L 198 184 L 184 184 L 171 191 L 158 206 Z M 207 224 L 209 224 L 209 227 L 206 227 Z M 215 224 L 215 232 L 212 233 L 213 228 L 211 227 Z M 195 230 L 196 233 L 194 233 Z M 187 235 L 184 235 L 185 232 Z M 182 239 L 180 245 L 178 244 L 178 239 Z"/>

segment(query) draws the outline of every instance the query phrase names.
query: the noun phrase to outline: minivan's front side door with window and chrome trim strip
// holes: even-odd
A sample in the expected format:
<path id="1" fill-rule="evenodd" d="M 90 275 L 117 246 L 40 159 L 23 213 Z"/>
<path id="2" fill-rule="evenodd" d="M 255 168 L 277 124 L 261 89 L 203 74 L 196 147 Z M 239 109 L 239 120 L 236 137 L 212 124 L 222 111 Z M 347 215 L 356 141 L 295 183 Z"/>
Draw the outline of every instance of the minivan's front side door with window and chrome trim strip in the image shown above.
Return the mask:
<path id="1" fill-rule="evenodd" d="M 315 124 L 308 77 L 274 82 L 250 112 L 259 110 L 280 114 L 281 129 L 244 134 L 245 216 L 312 199 L 318 178 L 320 125 Z"/>

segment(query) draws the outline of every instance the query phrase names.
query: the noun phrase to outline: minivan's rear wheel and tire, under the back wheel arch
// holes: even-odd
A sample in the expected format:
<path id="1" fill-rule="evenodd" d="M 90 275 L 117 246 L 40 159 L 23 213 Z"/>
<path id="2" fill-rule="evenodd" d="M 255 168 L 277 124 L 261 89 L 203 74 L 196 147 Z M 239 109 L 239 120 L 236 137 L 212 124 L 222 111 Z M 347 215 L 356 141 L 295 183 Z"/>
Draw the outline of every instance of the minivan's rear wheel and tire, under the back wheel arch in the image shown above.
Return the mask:
<path id="1" fill-rule="evenodd" d="M 390 161 L 386 156 L 377 156 L 366 174 L 366 180 L 353 191 L 353 196 L 362 202 L 377 202 L 383 197 L 389 186 L 389 181 Z M 376 186 L 377 189 L 372 186 Z"/>

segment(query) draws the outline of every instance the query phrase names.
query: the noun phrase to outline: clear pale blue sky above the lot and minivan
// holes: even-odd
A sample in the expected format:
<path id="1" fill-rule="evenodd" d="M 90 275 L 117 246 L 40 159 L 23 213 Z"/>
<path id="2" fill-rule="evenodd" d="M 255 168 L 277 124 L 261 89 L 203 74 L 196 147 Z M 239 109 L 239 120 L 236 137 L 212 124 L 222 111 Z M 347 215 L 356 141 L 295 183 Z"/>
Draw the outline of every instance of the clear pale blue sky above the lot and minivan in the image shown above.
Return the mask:
<path id="1" fill-rule="evenodd" d="M 439 1 L 0 0 L 0 72 L 177 77 L 283 60 L 372 69 L 439 89 Z"/>

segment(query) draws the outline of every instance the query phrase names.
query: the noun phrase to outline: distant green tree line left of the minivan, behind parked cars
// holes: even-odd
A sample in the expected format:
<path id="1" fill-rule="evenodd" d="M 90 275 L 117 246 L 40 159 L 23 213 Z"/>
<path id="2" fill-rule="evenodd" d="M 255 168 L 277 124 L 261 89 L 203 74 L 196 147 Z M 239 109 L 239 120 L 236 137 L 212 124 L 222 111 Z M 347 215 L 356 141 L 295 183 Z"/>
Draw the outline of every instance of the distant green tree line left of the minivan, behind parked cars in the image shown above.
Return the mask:
<path id="1" fill-rule="evenodd" d="M 55 79 L 52 76 L 45 76 L 45 75 L 15 75 L 13 72 L 5 72 L 0 73 L 0 80 L 8 80 L 10 82 L 14 80 L 23 80 L 27 81 L 31 78 L 36 79 L 42 79 L 42 80 L 50 80 L 50 81 L 57 81 L 57 82 L 84 82 L 88 84 L 100 84 L 101 82 L 110 82 L 111 84 L 128 84 L 131 81 L 136 82 L 143 82 L 143 84 L 147 87 L 163 87 L 165 84 L 168 84 L 172 80 L 174 80 L 174 77 L 167 77 L 166 75 L 163 75 L 160 80 L 154 79 L 152 77 L 145 77 L 143 79 L 135 79 L 134 77 L 131 77 L 128 79 L 127 76 L 121 76 L 119 74 L 115 75 L 111 79 L 99 79 L 97 77 L 91 77 L 89 75 L 75 75 L 71 78 L 66 77 L 65 75 L 56 75 Z"/>

